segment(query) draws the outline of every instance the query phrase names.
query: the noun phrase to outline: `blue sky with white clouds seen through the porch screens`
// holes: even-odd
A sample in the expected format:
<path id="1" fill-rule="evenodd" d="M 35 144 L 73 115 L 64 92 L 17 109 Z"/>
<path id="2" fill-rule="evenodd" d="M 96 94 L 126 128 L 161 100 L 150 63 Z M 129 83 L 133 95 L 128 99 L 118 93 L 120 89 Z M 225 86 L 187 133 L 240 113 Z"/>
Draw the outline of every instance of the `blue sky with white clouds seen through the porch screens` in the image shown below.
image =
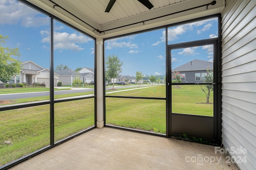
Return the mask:
<path id="1" fill-rule="evenodd" d="M 0 34 L 8 36 L 4 47 L 18 47 L 20 61 L 33 61 L 49 68 L 50 18 L 17 2 L 0 0 Z M 213 38 L 218 35 L 217 19 L 198 21 L 168 28 L 168 44 Z M 165 29 L 109 39 L 105 42 L 105 57 L 118 55 L 122 75 L 135 76 L 166 74 Z M 172 51 L 172 68 L 193 59 L 212 61 L 212 46 Z M 94 40 L 59 21 L 54 21 L 54 67 L 67 65 L 94 67 Z"/>

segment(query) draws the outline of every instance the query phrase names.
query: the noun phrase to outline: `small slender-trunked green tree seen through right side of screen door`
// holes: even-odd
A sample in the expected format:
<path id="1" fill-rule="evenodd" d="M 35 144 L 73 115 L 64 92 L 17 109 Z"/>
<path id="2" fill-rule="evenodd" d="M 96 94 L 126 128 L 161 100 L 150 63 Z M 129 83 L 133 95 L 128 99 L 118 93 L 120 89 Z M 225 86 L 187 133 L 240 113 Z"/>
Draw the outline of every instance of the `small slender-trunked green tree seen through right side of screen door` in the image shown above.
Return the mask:
<path id="1" fill-rule="evenodd" d="M 210 68 L 208 66 L 208 68 Z M 207 75 L 204 76 L 204 82 L 205 83 L 212 83 L 213 82 L 213 70 L 206 70 Z M 207 84 L 204 86 L 200 86 L 201 90 L 205 93 L 206 95 L 206 103 L 209 103 L 209 98 L 210 98 L 210 93 L 213 91 L 213 85 L 212 84 Z"/>

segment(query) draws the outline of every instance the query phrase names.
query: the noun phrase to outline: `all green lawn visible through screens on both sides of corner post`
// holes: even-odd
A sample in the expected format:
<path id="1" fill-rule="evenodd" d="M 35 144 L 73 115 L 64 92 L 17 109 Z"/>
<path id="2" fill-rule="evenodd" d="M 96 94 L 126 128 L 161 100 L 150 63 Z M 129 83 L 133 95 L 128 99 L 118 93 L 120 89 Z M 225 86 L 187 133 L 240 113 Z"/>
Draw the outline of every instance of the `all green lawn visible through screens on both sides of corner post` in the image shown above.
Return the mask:
<path id="1" fill-rule="evenodd" d="M 111 90 L 110 90 L 111 91 Z M 88 92 L 86 94 L 92 94 Z M 85 93 L 56 95 L 55 98 Z M 120 91 L 111 96 L 166 96 L 166 86 Z M 16 103 L 48 100 L 49 96 L 17 99 Z M 210 102 L 212 102 L 212 94 Z M 172 88 L 172 112 L 196 115 L 213 113 L 212 104 L 198 85 Z M 94 125 L 94 98 L 54 104 L 55 142 Z M 50 145 L 50 105 L 0 111 L 0 166 Z M 106 98 L 106 123 L 120 127 L 166 133 L 166 101 Z"/>

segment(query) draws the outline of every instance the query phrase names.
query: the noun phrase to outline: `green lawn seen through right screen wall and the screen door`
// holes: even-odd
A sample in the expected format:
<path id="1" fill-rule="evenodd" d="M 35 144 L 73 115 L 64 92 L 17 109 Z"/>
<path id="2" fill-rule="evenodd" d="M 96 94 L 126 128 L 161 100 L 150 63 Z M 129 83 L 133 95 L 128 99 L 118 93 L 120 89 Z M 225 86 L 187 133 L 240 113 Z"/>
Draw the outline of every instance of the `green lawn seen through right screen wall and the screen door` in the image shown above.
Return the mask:
<path id="1" fill-rule="evenodd" d="M 152 86 L 109 94 L 111 96 L 165 97 L 165 86 Z M 199 86 L 172 88 L 172 113 L 213 116 L 213 104 L 205 104 L 206 96 Z M 210 102 L 213 101 L 211 94 Z M 120 127 L 166 133 L 166 101 L 106 98 L 106 123 Z"/>

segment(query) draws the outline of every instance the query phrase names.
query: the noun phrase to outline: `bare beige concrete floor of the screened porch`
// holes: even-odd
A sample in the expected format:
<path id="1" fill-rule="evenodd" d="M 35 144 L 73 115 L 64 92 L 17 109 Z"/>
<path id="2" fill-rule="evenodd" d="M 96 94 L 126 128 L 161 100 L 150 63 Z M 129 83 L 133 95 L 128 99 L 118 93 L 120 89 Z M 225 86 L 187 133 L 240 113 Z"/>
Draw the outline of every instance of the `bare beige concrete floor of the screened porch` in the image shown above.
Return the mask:
<path id="1" fill-rule="evenodd" d="M 200 156 L 202 162 L 197 161 Z M 238 170 L 234 164 L 226 163 L 226 156 L 215 154 L 214 146 L 104 127 L 11 170 Z"/>

